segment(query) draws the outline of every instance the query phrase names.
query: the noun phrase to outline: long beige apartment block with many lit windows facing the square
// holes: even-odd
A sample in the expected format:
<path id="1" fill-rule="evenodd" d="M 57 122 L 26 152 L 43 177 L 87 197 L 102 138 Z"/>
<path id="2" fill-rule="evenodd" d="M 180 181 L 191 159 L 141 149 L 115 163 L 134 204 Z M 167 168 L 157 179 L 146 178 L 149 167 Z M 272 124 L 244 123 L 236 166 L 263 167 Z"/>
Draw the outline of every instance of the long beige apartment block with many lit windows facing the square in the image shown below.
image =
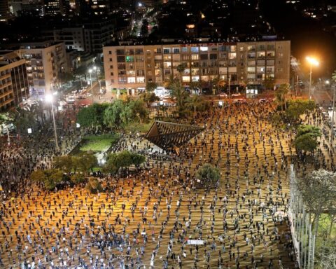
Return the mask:
<path id="1" fill-rule="evenodd" d="M 261 85 L 267 78 L 289 83 L 290 41 L 106 46 L 103 54 L 107 89 L 162 85 L 179 76 L 179 64 L 186 66 L 186 85 L 216 78 L 230 78 L 231 85 Z"/>

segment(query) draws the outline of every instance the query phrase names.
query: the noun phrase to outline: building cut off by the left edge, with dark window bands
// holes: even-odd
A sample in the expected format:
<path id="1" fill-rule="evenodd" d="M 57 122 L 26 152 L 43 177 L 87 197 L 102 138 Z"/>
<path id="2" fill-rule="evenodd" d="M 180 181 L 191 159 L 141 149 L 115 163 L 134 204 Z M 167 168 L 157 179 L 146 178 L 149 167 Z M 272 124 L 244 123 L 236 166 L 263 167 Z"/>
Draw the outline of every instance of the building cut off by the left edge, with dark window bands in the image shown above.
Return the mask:
<path id="1" fill-rule="evenodd" d="M 29 97 L 26 61 L 15 51 L 0 51 L 0 111 Z"/>

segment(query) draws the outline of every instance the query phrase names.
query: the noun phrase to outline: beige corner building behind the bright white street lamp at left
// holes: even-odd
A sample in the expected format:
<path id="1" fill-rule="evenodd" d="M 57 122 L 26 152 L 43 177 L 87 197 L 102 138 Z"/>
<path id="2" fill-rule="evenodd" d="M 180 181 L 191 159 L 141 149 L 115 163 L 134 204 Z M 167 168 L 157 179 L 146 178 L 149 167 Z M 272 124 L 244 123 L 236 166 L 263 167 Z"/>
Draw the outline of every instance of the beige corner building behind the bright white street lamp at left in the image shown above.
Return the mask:
<path id="1" fill-rule="evenodd" d="M 43 41 L 11 44 L 27 64 L 27 78 L 31 95 L 44 95 L 59 85 L 59 75 L 68 71 L 63 42 Z"/>

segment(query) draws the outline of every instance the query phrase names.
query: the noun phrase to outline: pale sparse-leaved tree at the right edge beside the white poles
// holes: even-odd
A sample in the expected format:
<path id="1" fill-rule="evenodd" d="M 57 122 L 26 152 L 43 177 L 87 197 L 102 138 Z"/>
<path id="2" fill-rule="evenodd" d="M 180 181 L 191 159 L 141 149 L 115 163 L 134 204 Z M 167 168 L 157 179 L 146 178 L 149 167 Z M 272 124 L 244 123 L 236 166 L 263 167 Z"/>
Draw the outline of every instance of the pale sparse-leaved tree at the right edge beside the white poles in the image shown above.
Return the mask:
<path id="1" fill-rule="evenodd" d="M 298 188 L 309 213 L 314 214 L 314 235 L 317 235 L 318 221 L 323 212 L 328 212 L 336 200 L 336 173 L 316 170 L 300 179 Z"/>

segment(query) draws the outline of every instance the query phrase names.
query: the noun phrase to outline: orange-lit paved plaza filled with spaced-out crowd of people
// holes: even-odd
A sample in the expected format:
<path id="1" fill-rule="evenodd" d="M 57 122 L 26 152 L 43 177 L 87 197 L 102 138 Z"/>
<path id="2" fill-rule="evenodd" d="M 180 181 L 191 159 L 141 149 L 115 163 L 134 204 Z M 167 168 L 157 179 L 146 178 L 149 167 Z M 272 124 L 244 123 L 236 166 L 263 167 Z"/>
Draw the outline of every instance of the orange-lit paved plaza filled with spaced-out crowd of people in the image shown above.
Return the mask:
<path id="1" fill-rule="evenodd" d="M 293 137 L 269 123 L 273 110 L 231 104 L 198 115 L 205 131 L 180 156 L 125 136 L 120 150 L 155 157 L 102 179 L 106 192 L 32 186 L 3 202 L 3 268 L 295 268 L 286 220 Z M 220 168 L 218 186 L 197 184 L 204 163 Z"/>

